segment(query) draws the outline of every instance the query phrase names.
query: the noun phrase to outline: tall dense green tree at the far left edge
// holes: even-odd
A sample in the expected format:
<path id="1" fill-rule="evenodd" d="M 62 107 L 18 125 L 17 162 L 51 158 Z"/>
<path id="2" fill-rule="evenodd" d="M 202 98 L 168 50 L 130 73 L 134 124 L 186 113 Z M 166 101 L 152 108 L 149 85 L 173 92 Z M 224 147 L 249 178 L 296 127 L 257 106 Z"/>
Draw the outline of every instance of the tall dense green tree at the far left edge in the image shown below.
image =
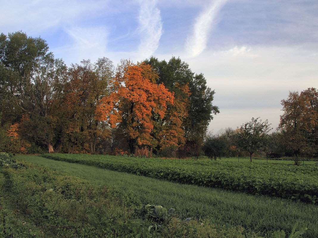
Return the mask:
<path id="1" fill-rule="evenodd" d="M 18 31 L 8 36 L 0 34 L 0 114 L 1 122 L 14 123 L 21 119 L 17 105 L 25 96 L 25 84 L 31 81 L 34 69 L 48 52 L 44 39 L 28 37 Z"/>

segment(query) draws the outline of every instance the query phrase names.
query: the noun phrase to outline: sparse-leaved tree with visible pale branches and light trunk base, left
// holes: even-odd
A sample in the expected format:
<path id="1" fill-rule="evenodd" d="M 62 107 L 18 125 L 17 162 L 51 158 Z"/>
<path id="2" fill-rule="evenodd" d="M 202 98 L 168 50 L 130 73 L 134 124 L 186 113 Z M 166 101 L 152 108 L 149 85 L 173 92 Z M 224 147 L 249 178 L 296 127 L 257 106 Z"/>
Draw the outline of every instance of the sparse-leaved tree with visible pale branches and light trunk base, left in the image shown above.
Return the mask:
<path id="1" fill-rule="evenodd" d="M 18 103 L 28 120 L 22 122 L 23 135 L 45 145 L 51 153 L 57 136 L 56 126 L 61 114 L 60 100 L 67 82 L 67 68 L 60 59 L 48 54 L 32 71 L 30 81 L 24 83 L 24 95 Z"/>

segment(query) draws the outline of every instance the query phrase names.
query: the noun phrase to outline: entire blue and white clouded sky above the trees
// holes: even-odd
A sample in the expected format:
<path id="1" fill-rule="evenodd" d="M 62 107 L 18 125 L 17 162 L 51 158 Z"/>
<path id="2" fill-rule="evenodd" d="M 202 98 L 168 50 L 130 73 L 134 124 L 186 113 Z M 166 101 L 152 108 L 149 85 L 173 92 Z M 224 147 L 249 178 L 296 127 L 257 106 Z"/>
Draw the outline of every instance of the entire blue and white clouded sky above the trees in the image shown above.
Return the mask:
<path id="1" fill-rule="evenodd" d="M 0 0 L 0 32 L 46 40 L 66 65 L 172 56 L 215 90 L 209 131 L 277 128 L 290 91 L 318 88 L 315 0 Z"/>

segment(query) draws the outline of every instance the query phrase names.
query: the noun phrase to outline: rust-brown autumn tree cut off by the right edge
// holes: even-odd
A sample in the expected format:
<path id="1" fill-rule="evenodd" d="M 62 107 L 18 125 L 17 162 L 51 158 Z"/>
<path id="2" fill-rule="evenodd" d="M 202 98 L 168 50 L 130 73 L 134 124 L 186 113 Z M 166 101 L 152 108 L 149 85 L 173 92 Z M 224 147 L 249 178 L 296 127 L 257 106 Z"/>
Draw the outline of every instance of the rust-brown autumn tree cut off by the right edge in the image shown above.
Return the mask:
<path id="1" fill-rule="evenodd" d="M 282 142 L 287 152 L 296 156 L 295 164 L 298 164 L 301 153 L 317 154 L 318 92 L 315 88 L 308 88 L 300 94 L 289 92 L 281 104 L 284 111 L 279 125 Z"/>

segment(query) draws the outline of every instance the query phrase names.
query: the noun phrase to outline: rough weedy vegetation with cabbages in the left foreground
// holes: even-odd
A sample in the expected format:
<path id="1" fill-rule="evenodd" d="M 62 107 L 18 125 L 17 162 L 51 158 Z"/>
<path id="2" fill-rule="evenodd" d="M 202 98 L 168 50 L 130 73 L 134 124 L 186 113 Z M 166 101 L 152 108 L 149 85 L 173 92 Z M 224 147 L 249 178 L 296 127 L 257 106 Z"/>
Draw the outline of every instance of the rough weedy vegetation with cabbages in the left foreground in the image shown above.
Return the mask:
<path id="1" fill-rule="evenodd" d="M 1 237 L 256 237 L 27 162 L 0 168 L 0 187 Z"/>

